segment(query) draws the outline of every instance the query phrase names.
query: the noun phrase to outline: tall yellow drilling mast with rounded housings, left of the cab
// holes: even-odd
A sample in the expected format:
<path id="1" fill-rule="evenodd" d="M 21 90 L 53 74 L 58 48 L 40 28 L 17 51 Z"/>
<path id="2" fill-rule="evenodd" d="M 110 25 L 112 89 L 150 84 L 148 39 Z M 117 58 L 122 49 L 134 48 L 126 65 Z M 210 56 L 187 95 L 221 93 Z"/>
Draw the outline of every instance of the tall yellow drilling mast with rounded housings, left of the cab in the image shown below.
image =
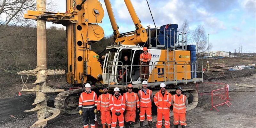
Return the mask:
<path id="1" fill-rule="evenodd" d="M 98 0 L 67 0 L 66 9 L 66 13 L 28 11 L 24 18 L 66 26 L 68 83 L 102 83 L 102 65 L 91 44 L 104 37 L 104 30 L 98 25 L 102 23 L 104 10 Z"/>

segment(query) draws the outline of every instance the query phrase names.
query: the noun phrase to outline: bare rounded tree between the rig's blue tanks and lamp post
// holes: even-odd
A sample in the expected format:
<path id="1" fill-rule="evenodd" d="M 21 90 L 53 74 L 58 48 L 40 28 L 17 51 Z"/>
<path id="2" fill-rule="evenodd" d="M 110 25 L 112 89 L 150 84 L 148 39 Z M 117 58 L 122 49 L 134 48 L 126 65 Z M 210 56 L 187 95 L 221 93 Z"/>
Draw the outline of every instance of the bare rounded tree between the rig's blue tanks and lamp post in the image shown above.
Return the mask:
<path id="1" fill-rule="evenodd" d="M 193 31 L 193 44 L 196 44 L 196 53 L 205 49 L 207 44 L 207 37 L 203 25 L 198 25 Z"/>

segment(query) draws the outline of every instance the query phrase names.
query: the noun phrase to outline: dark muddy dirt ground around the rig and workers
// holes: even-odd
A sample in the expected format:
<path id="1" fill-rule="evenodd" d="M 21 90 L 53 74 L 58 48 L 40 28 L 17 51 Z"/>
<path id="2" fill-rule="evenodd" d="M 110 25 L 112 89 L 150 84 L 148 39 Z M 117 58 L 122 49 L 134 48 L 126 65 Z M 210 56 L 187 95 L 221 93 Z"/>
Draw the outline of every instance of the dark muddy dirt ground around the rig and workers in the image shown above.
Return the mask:
<path id="1" fill-rule="evenodd" d="M 240 87 L 236 84 L 250 84 L 256 87 L 256 70 L 240 70 L 204 73 L 205 82 L 220 82 L 229 84 L 229 98 L 232 105 L 217 107 L 220 112 L 211 108 L 210 95 L 199 96 L 198 105 L 186 114 L 187 127 L 190 128 L 255 128 L 256 127 L 256 88 Z M 198 85 L 199 92 L 205 90 Z M 204 87 L 206 90 L 209 88 Z M 211 90 L 211 89 L 210 89 Z M 0 128 L 29 128 L 37 121 L 36 113 L 25 113 L 24 110 L 34 108 L 35 95 L 21 95 L 8 99 L 0 99 Z M 52 99 L 52 100 L 51 100 Z M 53 97 L 48 102 L 53 106 Z M 156 117 L 156 116 L 153 116 Z M 174 126 L 170 117 L 171 128 Z M 45 128 L 82 128 L 82 117 L 78 114 L 60 114 L 48 121 Z M 148 125 L 144 126 L 149 127 Z M 153 128 L 156 123 L 153 123 Z M 164 127 L 164 126 L 163 126 Z M 180 126 L 179 126 L 180 128 Z"/>

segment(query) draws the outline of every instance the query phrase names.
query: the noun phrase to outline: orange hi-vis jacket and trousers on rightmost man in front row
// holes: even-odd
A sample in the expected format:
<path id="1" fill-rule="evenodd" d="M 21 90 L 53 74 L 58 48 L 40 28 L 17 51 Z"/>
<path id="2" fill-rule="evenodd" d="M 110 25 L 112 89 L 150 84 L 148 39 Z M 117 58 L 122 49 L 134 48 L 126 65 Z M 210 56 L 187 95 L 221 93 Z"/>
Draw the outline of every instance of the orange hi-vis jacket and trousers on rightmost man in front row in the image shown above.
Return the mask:
<path id="1" fill-rule="evenodd" d="M 186 126 L 186 106 L 188 106 L 188 99 L 185 95 L 180 94 L 180 96 L 177 96 L 177 94 L 172 96 L 173 105 L 173 124 L 177 125 L 180 122 L 180 125 Z"/>

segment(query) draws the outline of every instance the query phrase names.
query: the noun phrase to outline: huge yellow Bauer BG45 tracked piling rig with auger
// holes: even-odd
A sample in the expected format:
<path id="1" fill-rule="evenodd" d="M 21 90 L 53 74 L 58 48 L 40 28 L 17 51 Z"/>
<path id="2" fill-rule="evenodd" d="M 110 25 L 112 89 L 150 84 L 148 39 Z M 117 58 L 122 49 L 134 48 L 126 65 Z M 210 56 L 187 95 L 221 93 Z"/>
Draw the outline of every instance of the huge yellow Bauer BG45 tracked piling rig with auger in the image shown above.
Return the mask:
<path id="1" fill-rule="evenodd" d="M 93 52 L 91 44 L 104 37 L 100 27 L 104 16 L 102 4 L 98 0 L 66 0 L 66 13 L 46 12 L 45 0 L 37 0 L 37 10 L 24 14 L 26 19 L 37 21 L 37 67 L 30 71 L 18 72 L 18 75 L 36 76 L 33 89 L 20 92 L 36 93 L 33 105 L 36 108 L 25 112 L 37 112 L 38 121 L 32 127 L 44 127 L 48 120 L 58 116 L 60 112 L 78 113 L 78 99 L 83 92 L 83 84 L 90 83 L 92 89 L 99 92 L 103 85 L 111 90 L 118 87 L 125 90 L 129 83 L 140 89 L 142 80 L 139 62 L 143 47 L 148 47 L 152 59 L 149 66 L 148 87 L 159 89 L 161 83 L 167 85 L 167 91 L 173 92 L 178 84 L 187 87 L 183 92 L 189 100 L 189 108 L 196 107 L 198 94 L 188 83 L 203 81 L 203 63 L 196 61 L 194 47 L 187 45 L 186 33 L 177 31 L 177 24 L 166 24 L 156 28 L 145 29 L 138 18 L 130 0 L 124 0 L 133 20 L 135 30 L 120 33 L 114 12 L 109 0 L 104 0 L 111 26 L 113 43 L 105 49 L 109 52 L 100 57 Z M 66 26 L 67 32 L 67 73 L 66 81 L 71 85 L 82 85 L 79 89 L 52 89 L 47 86 L 49 75 L 64 74 L 64 70 L 49 70 L 46 67 L 46 25 L 50 21 Z M 128 56 L 131 66 L 123 65 L 124 56 Z M 100 59 L 102 58 L 102 59 Z M 200 68 L 201 67 L 201 68 Z M 125 70 L 130 68 L 130 72 Z M 47 107 L 48 93 L 60 92 L 54 101 L 55 108 Z M 156 92 L 156 91 L 155 91 Z M 57 109 L 56 109 L 57 108 Z"/>

